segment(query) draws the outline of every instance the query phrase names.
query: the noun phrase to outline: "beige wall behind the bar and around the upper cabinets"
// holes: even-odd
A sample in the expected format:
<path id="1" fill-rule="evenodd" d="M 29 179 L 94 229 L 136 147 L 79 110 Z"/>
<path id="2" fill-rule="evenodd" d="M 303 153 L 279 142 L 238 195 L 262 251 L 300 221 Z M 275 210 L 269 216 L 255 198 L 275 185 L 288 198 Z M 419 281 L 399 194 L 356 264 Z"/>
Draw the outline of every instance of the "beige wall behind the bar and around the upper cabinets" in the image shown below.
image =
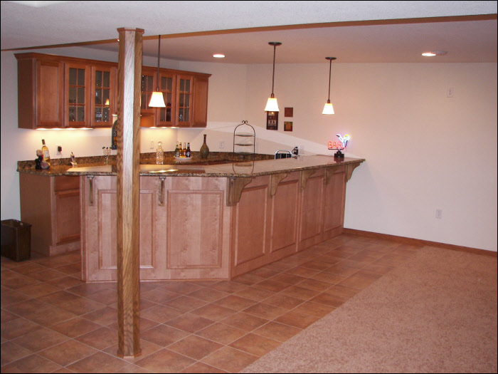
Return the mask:
<path id="1" fill-rule="evenodd" d="M 46 53 L 46 51 L 41 51 Z M 91 49 L 52 51 L 115 61 Z M 154 58 L 144 59 L 154 66 Z M 265 129 L 271 65 L 161 61 L 161 67 L 212 73 L 208 127 L 142 130 L 142 152 L 151 140 L 166 150 L 176 140 L 211 151 L 231 151 L 233 128 L 255 126 L 256 151 L 304 148 L 332 155 L 327 141 L 349 133 L 346 155 L 364 157 L 348 182 L 345 227 L 497 251 L 497 63 L 332 64 L 331 100 L 337 114 L 322 115 L 327 61 L 277 64 L 279 130 Z M 446 97 L 448 87 L 455 96 Z M 283 131 L 283 108 L 294 108 L 292 132 Z M 110 130 L 46 131 L 16 128 L 16 59 L 1 53 L 1 219 L 19 219 L 17 160 L 34 159 L 45 138 L 52 152 L 100 155 Z M 224 142 L 224 148 L 220 148 Z M 435 218 L 443 209 L 443 218 Z"/>

